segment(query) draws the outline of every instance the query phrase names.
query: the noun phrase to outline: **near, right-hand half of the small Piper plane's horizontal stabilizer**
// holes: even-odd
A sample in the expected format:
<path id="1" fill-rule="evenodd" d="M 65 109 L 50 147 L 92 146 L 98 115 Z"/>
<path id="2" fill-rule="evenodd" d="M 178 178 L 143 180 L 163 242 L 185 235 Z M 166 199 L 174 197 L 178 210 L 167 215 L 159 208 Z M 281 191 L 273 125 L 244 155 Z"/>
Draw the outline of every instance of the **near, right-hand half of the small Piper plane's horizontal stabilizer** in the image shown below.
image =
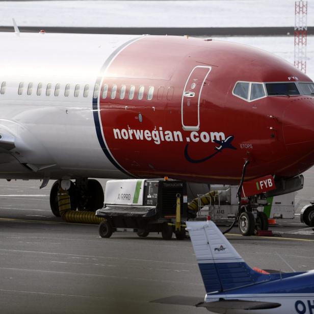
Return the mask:
<path id="1" fill-rule="evenodd" d="M 196 305 L 197 307 L 206 307 L 210 311 L 227 310 L 227 309 L 270 309 L 281 306 L 280 303 L 274 302 L 258 302 L 247 300 L 220 300 L 214 302 L 202 302 Z"/>

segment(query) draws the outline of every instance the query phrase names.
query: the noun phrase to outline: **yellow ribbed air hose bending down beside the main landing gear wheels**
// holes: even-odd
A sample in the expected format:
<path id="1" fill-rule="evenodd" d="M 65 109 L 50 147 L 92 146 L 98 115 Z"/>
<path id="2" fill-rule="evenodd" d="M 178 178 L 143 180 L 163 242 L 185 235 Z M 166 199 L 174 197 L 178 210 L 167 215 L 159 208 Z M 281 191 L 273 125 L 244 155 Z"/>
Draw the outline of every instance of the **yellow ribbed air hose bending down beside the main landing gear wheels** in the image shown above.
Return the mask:
<path id="1" fill-rule="evenodd" d="M 103 220 L 102 217 L 98 217 L 94 212 L 76 212 L 71 210 L 69 192 L 63 190 L 61 185 L 58 190 L 58 206 L 61 218 L 66 222 L 76 223 L 90 223 L 99 224 Z"/>

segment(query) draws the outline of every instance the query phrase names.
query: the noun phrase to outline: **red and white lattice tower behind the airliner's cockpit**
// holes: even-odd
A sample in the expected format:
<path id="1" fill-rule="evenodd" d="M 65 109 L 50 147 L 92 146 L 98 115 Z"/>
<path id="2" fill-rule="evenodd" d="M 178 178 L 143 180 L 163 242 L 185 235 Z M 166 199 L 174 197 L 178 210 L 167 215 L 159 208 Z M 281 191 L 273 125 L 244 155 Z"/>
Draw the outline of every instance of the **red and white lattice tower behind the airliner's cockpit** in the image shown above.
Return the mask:
<path id="1" fill-rule="evenodd" d="M 295 5 L 295 62 L 294 65 L 306 73 L 307 1 L 296 1 Z"/>

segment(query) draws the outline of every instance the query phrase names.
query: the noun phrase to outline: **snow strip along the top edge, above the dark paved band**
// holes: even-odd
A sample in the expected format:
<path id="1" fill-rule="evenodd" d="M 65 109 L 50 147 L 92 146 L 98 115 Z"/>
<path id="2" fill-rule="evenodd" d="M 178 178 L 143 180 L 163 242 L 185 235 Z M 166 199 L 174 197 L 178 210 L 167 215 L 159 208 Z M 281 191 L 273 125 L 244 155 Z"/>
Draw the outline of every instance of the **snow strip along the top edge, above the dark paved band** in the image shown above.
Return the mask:
<path id="1" fill-rule="evenodd" d="M 1 2 L 0 25 L 61 27 L 284 27 L 295 0 Z M 314 1 L 308 1 L 314 25 Z"/>

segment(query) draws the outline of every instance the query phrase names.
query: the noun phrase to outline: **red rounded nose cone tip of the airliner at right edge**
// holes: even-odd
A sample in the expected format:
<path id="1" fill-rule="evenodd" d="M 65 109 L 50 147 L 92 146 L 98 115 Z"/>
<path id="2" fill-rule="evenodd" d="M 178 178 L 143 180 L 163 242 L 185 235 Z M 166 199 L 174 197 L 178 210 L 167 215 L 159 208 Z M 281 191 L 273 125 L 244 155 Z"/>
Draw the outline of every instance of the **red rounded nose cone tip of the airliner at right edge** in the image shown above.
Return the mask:
<path id="1" fill-rule="evenodd" d="M 283 114 L 283 136 L 289 153 L 306 155 L 314 149 L 314 99 L 298 97 Z"/>

